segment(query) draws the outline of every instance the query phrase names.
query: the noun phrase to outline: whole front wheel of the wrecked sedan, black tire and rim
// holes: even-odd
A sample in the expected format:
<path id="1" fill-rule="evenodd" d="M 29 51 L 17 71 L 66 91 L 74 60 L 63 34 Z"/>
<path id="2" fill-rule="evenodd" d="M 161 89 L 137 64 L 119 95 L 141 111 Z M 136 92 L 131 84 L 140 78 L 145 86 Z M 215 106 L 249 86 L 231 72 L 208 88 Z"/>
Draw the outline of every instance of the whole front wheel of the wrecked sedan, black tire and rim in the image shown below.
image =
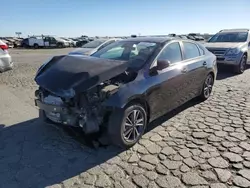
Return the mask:
<path id="1" fill-rule="evenodd" d="M 138 118 L 136 118 L 136 122 L 138 122 L 137 125 L 135 122 L 131 122 L 133 125 L 128 126 L 130 122 L 128 119 L 130 119 L 132 117 L 131 115 L 134 115 L 134 112 L 136 113 L 137 111 L 139 112 L 138 115 L 136 115 L 138 116 Z M 146 126 L 147 113 L 145 109 L 142 105 L 134 103 L 127 106 L 125 109 L 116 110 L 112 113 L 109 118 L 108 135 L 114 145 L 121 148 L 130 148 L 140 140 L 144 134 Z M 130 131 L 130 129 L 132 130 Z"/>

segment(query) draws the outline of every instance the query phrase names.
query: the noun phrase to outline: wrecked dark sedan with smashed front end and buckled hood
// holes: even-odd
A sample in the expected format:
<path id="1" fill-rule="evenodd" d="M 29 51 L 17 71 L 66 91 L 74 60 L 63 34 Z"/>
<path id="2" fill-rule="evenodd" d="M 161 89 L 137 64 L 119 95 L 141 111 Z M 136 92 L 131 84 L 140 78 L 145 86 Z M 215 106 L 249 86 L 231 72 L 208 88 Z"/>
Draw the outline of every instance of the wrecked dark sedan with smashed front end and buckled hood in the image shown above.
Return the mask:
<path id="1" fill-rule="evenodd" d="M 209 98 L 216 75 L 216 57 L 199 43 L 131 38 L 91 56 L 53 57 L 35 77 L 35 103 L 47 122 L 104 130 L 114 144 L 130 147 L 152 120 Z"/>

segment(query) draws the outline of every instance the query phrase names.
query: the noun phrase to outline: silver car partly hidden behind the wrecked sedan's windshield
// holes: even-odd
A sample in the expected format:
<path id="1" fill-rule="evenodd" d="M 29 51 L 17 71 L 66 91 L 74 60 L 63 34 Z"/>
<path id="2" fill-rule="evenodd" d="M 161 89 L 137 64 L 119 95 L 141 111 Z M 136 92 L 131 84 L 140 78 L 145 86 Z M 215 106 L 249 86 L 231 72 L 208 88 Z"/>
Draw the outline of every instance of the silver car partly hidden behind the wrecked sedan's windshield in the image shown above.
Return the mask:
<path id="1" fill-rule="evenodd" d="M 77 48 L 70 52 L 70 55 L 92 55 L 93 53 L 99 51 L 100 49 L 108 46 L 109 44 L 117 41 L 119 39 L 96 39 L 87 44 L 84 44 L 81 48 Z"/>

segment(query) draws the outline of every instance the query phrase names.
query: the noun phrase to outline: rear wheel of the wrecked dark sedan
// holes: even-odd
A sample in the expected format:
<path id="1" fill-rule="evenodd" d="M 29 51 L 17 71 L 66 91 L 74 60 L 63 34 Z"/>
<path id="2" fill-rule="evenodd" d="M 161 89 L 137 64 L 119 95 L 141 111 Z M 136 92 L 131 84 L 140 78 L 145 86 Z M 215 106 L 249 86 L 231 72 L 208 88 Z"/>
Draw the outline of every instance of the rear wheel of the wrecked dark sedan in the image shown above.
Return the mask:
<path id="1" fill-rule="evenodd" d="M 204 83 L 203 83 L 203 88 L 202 88 L 202 92 L 200 95 L 200 98 L 202 100 L 207 100 L 213 90 L 213 85 L 214 85 L 214 77 L 212 74 L 207 75 Z"/>

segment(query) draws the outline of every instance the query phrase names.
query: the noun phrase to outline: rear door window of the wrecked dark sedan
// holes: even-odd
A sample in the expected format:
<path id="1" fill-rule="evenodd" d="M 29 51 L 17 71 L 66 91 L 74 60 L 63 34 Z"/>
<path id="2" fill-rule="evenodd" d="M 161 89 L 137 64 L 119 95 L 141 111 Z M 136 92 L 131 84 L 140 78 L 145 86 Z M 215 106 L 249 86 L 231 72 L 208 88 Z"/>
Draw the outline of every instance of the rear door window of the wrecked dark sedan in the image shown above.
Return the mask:
<path id="1" fill-rule="evenodd" d="M 200 56 L 197 45 L 191 42 L 183 42 L 184 59 L 192 59 Z"/>

